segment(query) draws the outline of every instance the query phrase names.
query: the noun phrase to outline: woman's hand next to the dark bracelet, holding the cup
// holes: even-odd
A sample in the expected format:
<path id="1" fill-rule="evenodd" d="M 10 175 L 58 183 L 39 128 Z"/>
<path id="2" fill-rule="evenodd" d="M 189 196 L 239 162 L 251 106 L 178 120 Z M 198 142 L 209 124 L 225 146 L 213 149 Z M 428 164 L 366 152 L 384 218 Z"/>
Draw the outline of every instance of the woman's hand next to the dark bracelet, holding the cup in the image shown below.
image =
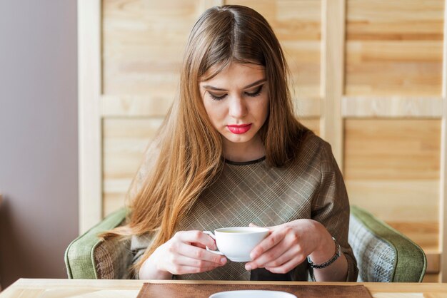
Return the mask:
<path id="1" fill-rule="evenodd" d="M 268 229 L 271 234 L 251 251 L 247 270 L 266 268 L 273 273 L 286 273 L 308 255 L 318 264 L 329 260 L 336 251 L 329 232 L 315 220 L 294 220 Z"/>

